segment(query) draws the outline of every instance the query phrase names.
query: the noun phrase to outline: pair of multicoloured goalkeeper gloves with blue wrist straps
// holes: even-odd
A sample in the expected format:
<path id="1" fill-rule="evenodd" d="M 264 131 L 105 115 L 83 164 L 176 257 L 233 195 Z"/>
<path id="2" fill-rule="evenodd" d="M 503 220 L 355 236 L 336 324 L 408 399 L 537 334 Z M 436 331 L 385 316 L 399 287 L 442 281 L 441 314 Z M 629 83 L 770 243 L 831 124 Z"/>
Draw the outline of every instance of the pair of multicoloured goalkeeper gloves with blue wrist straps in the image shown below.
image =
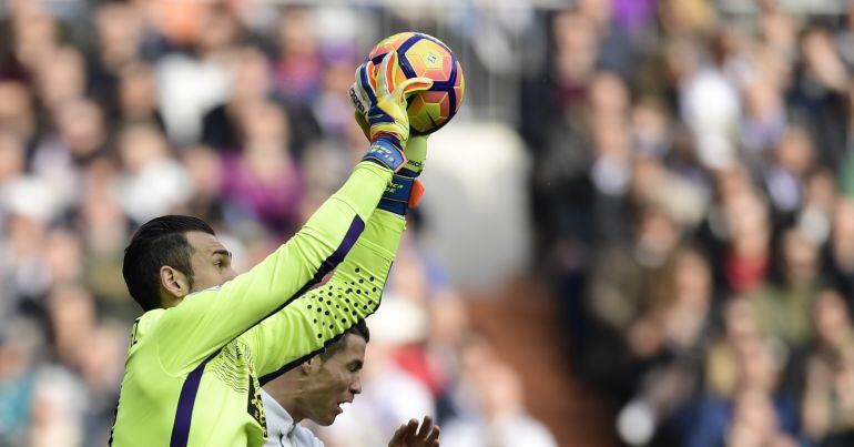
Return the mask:
<path id="1" fill-rule="evenodd" d="M 376 67 L 367 61 L 356 69 L 349 96 L 370 149 L 363 156 L 394 171 L 377 207 L 399 215 L 415 207 L 424 194 L 416 180 L 427 158 L 427 135 L 410 135 L 406 112 L 408 95 L 433 87 L 429 78 L 396 82 L 400 72 L 397 52 L 389 51 Z"/>

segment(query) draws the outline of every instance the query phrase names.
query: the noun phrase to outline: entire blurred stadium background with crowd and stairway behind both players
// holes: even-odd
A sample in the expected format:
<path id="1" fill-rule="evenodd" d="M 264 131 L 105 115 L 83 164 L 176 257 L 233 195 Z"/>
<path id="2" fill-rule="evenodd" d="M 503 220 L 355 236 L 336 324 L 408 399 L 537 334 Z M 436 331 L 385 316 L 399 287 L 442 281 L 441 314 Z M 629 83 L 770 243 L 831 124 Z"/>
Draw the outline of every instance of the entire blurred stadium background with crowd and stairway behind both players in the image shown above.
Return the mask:
<path id="1" fill-rule="evenodd" d="M 0 0 L 0 446 L 104 445 L 132 232 L 263 258 L 408 30 L 466 96 L 328 446 L 854 445 L 848 1 Z"/>

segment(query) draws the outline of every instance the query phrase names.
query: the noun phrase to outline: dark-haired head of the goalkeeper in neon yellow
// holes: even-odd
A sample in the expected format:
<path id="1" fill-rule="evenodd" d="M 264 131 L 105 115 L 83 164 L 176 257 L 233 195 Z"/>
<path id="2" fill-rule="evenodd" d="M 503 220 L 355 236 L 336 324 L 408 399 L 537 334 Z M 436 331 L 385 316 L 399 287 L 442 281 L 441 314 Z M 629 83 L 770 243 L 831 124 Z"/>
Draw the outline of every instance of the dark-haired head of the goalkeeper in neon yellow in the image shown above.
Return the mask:
<path id="1" fill-rule="evenodd" d="M 235 276 L 232 255 L 211 225 L 165 215 L 143 224 L 124 250 L 124 282 L 143 311 L 172 307 L 184 296 Z"/>

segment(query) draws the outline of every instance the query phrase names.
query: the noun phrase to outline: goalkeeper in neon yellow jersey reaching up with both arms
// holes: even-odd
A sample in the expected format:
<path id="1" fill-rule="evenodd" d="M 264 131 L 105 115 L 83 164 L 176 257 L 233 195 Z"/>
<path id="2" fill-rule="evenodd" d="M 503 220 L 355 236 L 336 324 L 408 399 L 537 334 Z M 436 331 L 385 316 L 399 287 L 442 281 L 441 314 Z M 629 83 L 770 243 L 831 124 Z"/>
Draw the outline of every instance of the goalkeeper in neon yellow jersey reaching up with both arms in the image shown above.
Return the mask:
<path id="1" fill-rule="evenodd" d="M 363 120 L 372 141 L 363 161 L 293 238 L 247 273 L 234 275 L 230 253 L 197 219 L 157 217 L 136 231 L 123 274 L 145 313 L 133 326 L 111 445 L 263 445 L 261 385 L 376 311 L 404 214 L 420 195 L 411 174 L 424 151 L 405 155 L 405 98 L 433 83 L 395 85 L 388 73 L 396 70 L 392 52 Z M 309 291 L 333 270 L 326 285 Z"/>

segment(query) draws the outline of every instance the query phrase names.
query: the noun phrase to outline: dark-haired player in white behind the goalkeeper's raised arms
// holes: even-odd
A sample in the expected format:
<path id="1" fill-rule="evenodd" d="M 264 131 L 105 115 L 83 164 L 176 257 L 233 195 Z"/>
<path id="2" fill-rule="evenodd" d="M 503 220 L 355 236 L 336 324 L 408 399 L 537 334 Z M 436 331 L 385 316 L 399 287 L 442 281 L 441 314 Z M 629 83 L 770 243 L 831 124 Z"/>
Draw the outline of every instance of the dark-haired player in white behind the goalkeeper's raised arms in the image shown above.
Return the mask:
<path id="1" fill-rule="evenodd" d="M 362 392 L 362 365 L 370 333 L 364 322 L 350 327 L 325 352 L 270 382 L 261 390 L 267 416 L 264 447 L 323 447 L 314 434 L 298 424 L 303 419 L 332 425 L 340 404 Z M 438 447 L 439 427 L 429 417 L 420 429 L 413 419 L 395 431 L 388 447 Z"/>

